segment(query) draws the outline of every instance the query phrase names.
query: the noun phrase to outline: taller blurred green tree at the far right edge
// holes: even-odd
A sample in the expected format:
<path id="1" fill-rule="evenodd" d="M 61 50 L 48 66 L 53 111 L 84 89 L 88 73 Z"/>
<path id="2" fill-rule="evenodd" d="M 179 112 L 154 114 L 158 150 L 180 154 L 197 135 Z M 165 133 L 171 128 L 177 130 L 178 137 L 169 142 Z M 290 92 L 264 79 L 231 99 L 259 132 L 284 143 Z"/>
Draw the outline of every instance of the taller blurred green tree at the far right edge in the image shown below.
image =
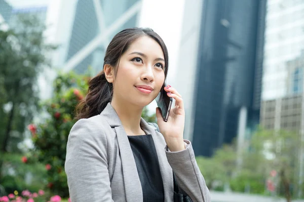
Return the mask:
<path id="1" fill-rule="evenodd" d="M 248 151 L 244 153 L 243 170 L 259 175 L 269 187 L 276 187 L 279 195 L 291 201 L 300 188 L 297 186 L 298 154 L 302 146 L 303 141 L 298 133 L 259 128 L 250 140 Z"/>

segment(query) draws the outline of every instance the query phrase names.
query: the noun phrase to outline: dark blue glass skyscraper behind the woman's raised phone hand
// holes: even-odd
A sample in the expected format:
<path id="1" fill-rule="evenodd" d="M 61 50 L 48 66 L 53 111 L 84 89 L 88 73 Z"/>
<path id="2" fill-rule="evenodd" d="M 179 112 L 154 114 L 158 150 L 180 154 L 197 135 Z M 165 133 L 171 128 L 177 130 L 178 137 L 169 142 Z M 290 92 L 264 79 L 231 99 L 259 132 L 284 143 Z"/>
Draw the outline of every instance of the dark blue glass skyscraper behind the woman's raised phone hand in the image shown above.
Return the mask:
<path id="1" fill-rule="evenodd" d="M 212 156 L 259 123 L 265 1 L 206 0 L 193 107 L 196 155 Z"/>

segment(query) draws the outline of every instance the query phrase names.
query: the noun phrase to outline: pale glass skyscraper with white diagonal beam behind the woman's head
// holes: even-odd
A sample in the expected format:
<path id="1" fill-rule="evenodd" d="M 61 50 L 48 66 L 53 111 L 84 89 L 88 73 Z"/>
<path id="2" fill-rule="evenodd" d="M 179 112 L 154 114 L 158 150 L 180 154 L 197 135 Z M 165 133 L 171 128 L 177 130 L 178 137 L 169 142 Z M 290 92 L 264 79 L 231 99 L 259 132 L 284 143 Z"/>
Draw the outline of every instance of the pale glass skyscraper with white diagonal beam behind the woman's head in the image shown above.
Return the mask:
<path id="1" fill-rule="evenodd" d="M 118 31 L 136 26 L 140 7 L 137 6 L 138 9 L 131 15 L 128 15 L 128 12 L 134 10 L 132 7 L 136 7 L 138 2 L 137 0 L 79 0 L 75 8 L 65 61 L 66 63 L 73 61 L 79 57 L 77 54 L 80 54 L 81 60 L 68 65 L 67 69 L 84 73 L 88 67 L 92 67 L 95 73 L 101 71 L 109 40 Z M 110 33 L 107 33 L 109 30 Z M 98 40 L 102 37 L 103 39 Z M 97 41 L 94 43 L 95 40 Z"/>

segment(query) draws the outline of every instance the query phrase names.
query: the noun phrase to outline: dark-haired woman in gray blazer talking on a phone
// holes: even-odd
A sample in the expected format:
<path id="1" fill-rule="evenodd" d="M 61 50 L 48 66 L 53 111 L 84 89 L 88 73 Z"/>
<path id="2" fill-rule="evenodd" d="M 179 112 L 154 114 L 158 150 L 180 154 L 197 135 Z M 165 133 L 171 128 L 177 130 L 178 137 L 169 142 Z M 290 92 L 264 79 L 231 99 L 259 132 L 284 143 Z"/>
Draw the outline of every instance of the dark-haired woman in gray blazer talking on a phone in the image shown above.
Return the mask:
<path id="1" fill-rule="evenodd" d="M 68 137 L 72 202 L 173 201 L 173 172 L 193 201 L 210 201 L 191 142 L 183 139 L 183 101 L 165 85 L 167 72 L 167 47 L 153 30 L 125 29 L 113 37 Z M 159 92 L 175 99 L 167 122 L 156 110 L 161 133 L 141 118 Z"/>

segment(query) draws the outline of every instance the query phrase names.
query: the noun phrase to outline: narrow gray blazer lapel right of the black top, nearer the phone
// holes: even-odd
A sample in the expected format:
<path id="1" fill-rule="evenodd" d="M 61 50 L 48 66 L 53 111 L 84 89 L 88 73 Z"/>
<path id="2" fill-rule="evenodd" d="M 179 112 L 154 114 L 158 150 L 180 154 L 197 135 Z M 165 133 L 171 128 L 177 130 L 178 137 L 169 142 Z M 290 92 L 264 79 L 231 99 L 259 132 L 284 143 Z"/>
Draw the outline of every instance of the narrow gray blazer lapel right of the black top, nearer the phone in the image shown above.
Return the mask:
<path id="1" fill-rule="evenodd" d="M 157 132 L 154 126 L 147 124 L 143 119 L 141 119 L 140 125 L 146 134 L 152 135 L 154 140 L 164 184 L 165 201 L 173 201 L 173 172 L 167 160 L 164 136 Z"/>

